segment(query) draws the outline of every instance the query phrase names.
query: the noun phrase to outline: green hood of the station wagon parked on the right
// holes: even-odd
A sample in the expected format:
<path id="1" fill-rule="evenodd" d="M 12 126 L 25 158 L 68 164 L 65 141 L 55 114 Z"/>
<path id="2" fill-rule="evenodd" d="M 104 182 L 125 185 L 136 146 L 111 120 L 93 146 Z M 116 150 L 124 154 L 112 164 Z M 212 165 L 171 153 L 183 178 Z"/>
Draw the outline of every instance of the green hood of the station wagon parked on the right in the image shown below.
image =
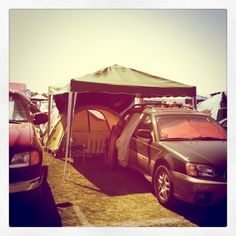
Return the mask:
<path id="1" fill-rule="evenodd" d="M 226 166 L 226 141 L 169 141 L 161 145 L 188 162 Z"/>

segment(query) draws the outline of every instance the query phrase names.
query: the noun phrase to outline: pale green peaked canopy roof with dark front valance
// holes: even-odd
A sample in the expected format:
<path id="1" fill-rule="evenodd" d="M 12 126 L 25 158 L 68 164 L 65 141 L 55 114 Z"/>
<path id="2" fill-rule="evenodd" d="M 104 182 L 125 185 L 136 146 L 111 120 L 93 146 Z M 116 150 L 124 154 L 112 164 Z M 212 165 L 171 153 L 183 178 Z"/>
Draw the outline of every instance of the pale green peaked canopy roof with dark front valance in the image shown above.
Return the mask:
<path id="1" fill-rule="evenodd" d="M 50 86 L 53 95 L 78 93 L 126 94 L 140 97 L 196 96 L 196 87 L 119 65 L 106 67 L 62 86 Z"/>

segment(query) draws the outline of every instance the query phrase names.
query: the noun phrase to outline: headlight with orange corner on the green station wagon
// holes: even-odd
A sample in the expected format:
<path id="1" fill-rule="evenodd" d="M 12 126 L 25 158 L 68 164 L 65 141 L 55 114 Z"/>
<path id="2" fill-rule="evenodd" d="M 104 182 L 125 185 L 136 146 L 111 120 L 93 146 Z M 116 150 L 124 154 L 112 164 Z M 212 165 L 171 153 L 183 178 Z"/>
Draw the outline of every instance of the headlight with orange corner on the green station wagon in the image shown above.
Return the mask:
<path id="1" fill-rule="evenodd" d="M 187 175 L 194 177 L 216 177 L 216 173 L 213 168 L 201 164 L 186 164 Z"/>

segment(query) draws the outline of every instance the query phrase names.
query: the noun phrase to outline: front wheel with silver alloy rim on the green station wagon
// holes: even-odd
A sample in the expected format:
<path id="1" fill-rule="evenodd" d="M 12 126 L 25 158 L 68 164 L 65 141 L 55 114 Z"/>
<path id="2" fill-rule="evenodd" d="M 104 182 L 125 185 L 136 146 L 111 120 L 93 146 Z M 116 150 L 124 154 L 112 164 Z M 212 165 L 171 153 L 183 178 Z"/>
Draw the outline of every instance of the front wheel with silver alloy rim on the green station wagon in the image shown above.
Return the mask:
<path id="1" fill-rule="evenodd" d="M 158 202 L 165 207 L 171 207 L 175 200 L 174 186 L 171 173 L 165 165 L 157 167 L 154 173 L 153 185 Z"/>

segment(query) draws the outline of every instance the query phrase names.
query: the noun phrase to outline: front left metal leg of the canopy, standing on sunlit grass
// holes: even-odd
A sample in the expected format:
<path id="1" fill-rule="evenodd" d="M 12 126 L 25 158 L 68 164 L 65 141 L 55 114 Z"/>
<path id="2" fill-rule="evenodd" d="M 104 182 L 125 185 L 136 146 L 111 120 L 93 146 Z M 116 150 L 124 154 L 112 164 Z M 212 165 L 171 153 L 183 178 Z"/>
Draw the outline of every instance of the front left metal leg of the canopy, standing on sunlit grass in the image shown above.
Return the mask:
<path id="1" fill-rule="evenodd" d="M 64 165 L 64 180 L 68 180 L 69 168 L 68 161 L 71 159 L 71 133 L 72 121 L 75 111 L 77 92 L 68 94 L 68 108 L 67 108 L 67 126 L 66 126 L 66 152 L 65 152 L 65 165 Z"/>

